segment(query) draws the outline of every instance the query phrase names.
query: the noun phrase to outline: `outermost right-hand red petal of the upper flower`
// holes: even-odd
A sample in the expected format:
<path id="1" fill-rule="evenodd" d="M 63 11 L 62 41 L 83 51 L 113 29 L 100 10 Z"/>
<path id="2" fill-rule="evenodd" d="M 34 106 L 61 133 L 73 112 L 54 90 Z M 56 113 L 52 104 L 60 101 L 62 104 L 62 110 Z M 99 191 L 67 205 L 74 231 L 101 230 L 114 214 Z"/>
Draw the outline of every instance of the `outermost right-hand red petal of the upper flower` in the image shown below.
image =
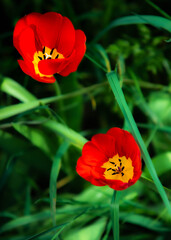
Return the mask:
<path id="1" fill-rule="evenodd" d="M 75 72 L 78 68 L 78 65 L 80 64 L 85 51 L 86 51 L 86 36 L 83 31 L 81 30 L 76 30 L 75 31 L 75 59 L 73 62 L 68 64 L 68 66 L 60 72 L 60 75 L 66 77 L 68 76 L 71 72 Z"/>

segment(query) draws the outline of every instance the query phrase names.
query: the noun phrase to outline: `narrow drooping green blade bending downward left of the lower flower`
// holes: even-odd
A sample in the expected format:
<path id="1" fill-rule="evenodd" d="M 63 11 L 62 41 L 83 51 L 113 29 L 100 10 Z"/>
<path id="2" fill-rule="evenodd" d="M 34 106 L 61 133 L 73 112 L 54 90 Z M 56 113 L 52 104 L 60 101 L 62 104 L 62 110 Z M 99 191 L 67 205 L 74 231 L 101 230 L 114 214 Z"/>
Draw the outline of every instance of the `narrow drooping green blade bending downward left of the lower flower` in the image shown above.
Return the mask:
<path id="1" fill-rule="evenodd" d="M 64 153 L 67 151 L 69 144 L 64 142 L 58 149 L 56 156 L 52 163 L 51 173 L 50 173 L 50 186 L 49 186 L 49 197 L 50 197 L 50 208 L 52 214 L 53 225 L 56 225 L 56 199 L 57 199 L 57 187 L 56 182 L 59 174 L 61 158 Z"/>

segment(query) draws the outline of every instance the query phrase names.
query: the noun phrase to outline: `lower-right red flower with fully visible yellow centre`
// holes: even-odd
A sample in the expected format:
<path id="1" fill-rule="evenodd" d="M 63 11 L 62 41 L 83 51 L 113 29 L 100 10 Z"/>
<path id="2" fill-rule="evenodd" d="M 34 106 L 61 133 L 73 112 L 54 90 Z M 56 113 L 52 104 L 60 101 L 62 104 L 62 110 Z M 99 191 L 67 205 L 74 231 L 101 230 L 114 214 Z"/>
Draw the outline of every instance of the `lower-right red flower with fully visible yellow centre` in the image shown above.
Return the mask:
<path id="1" fill-rule="evenodd" d="M 140 149 L 129 132 L 111 128 L 84 145 L 76 171 L 93 185 L 126 189 L 141 176 Z"/>

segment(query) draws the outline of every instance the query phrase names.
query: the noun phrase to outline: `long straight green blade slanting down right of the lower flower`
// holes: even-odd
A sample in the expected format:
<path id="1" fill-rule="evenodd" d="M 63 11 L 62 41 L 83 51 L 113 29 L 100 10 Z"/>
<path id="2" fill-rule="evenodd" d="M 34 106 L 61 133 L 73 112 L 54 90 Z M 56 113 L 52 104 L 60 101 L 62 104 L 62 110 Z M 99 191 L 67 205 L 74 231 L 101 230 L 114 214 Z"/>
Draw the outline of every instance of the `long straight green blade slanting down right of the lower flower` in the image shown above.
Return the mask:
<path id="1" fill-rule="evenodd" d="M 150 158 L 150 155 L 146 149 L 146 146 L 144 144 L 144 141 L 141 137 L 141 134 L 137 128 L 137 125 L 135 123 L 135 120 L 132 116 L 132 113 L 131 111 L 129 110 L 129 107 L 126 103 L 126 100 L 125 100 L 125 97 L 124 97 L 124 94 L 122 92 L 122 89 L 120 87 L 120 84 L 119 84 L 119 81 L 118 81 L 118 77 L 117 77 L 117 74 L 115 72 L 110 72 L 110 73 L 107 73 L 107 79 L 109 81 L 109 84 L 112 88 L 112 91 L 116 97 L 116 100 L 120 106 L 120 109 L 126 119 L 126 121 L 128 122 L 128 125 L 130 127 L 130 130 L 134 136 L 134 138 L 136 139 L 140 149 L 141 149 L 141 153 L 142 153 L 142 157 L 144 159 L 144 162 L 149 170 L 149 173 L 151 174 L 151 177 L 154 181 L 154 184 L 156 185 L 156 188 L 166 206 L 166 208 L 168 209 L 168 213 L 171 215 L 171 206 L 170 206 L 170 203 L 169 203 L 169 200 L 167 198 L 167 195 L 166 195 L 166 192 L 164 191 L 164 188 L 157 176 L 157 173 L 156 173 L 156 170 L 153 166 L 153 163 L 152 163 L 152 160 Z"/>

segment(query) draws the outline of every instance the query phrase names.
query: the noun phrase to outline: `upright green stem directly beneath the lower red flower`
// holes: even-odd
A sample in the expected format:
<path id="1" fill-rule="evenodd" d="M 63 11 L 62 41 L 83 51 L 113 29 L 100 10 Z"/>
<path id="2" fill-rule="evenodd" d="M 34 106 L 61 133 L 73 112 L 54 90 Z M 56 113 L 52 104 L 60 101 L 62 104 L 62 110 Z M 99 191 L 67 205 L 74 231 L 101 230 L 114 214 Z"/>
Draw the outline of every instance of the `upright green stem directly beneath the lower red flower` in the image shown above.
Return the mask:
<path id="1" fill-rule="evenodd" d="M 114 190 L 111 201 L 111 220 L 113 228 L 113 239 L 119 240 L 119 192 Z"/>

